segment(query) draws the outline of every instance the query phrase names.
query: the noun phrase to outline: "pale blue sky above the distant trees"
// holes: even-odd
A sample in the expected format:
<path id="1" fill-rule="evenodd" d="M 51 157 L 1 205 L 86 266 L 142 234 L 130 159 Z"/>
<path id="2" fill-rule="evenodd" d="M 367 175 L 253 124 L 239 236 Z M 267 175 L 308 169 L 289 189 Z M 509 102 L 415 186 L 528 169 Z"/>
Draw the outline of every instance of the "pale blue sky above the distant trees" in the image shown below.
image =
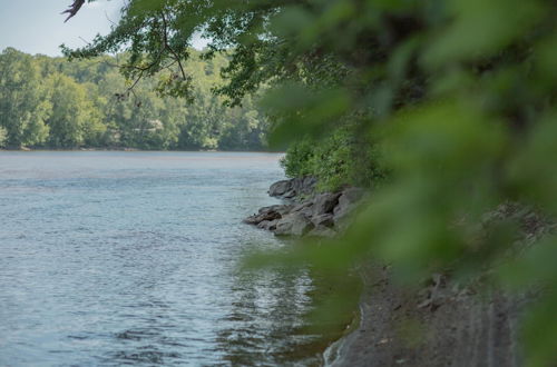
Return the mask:
<path id="1" fill-rule="evenodd" d="M 72 0 L 0 0 L 0 51 L 13 47 L 28 53 L 60 56 L 59 46 L 82 47 L 97 33 L 110 31 L 110 20 L 119 19 L 125 0 L 85 3 L 67 23 L 60 14 Z M 194 47 L 206 42 L 194 40 Z"/>

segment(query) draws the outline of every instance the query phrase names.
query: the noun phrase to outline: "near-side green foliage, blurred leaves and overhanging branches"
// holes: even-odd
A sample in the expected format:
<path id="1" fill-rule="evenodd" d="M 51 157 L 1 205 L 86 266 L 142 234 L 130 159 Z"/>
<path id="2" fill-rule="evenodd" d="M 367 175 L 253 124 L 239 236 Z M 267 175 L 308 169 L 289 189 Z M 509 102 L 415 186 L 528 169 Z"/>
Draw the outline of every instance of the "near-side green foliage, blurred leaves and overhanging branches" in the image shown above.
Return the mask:
<path id="1" fill-rule="evenodd" d="M 506 201 L 549 217 L 557 211 L 556 7 L 134 0 L 111 34 L 67 54 L 127 49 L 133 77 L 187 59 L 186 44 L 201 32 L 211 41 L 206 58 L 229 57 L 227 83 L 216 89 L 229 105 L 265 88 L 271 142 L 297 141 L 287 173 L 317 175 L 329 187 L 375 187 L 342 239 L 274 261 L 343 274 L 375 259 L 410 282 L 450 268 L 463 279 L 541 286 L 524 335 L 527 363 L 547 366 L 557 358 L 557 242 L 546 235 L 516 245 L 517 224 L 486 226 L 482 218 Z M 167 85 L 173 96 L 190 93 L 179 66 Z M 388 178 L 370 175 L 375 168 Z"/>

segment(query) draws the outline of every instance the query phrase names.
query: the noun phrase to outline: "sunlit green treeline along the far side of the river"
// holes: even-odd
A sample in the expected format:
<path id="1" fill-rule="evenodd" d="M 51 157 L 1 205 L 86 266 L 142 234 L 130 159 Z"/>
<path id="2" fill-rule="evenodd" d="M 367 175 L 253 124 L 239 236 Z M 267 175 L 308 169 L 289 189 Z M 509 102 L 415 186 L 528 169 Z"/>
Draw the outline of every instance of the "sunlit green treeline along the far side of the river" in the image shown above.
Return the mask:
<path id="1" fill-rule="evenodd" d="M 223 56 L 185 66 L 194 100 L 163 98 L 157 77 L 126 80 L 118 57 L 68 62 L 12 48 L 0 54 L 0 148 L 265 149 L 268 123 L 246 98 L 223 106 Z"/>

